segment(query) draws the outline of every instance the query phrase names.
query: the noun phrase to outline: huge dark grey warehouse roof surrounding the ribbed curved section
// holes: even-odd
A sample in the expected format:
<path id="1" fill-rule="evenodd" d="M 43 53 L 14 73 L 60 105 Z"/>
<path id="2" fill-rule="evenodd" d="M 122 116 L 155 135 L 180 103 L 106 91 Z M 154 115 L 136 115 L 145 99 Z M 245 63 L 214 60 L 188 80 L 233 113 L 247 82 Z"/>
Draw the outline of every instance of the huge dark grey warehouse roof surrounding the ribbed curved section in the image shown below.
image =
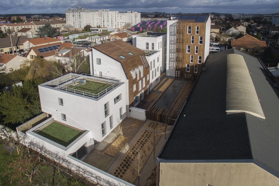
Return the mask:
<path id="1" fill-rule="evenodd" d="M 266 119 L 247 113 L 226 114 L 228 54 L 243 56 Z M 207 61 L 207 71 L 201 71 L 158 161 L 247 160 L 279 177 L 279 90 L 272 86 L 266 67 L 236 49 L 210 54 Z M 192 114 L 193 110 L 198 114 Z"/>

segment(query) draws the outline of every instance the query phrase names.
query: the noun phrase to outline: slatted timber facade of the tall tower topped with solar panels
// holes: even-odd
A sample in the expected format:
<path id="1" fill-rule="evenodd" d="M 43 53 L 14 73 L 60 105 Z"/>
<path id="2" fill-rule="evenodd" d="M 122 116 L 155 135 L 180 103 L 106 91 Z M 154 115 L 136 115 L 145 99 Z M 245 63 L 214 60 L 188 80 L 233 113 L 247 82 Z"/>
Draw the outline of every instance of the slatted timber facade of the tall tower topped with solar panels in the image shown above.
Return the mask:
<path id="1" fill-rule="evenodd" d="M 188 34 L 188 26 L 191 26 L 191 33 Z M 196 26 L 199 27 L 196 34 Z M 196 79 L 201 72 L 205 60 L 205 27 L 206 23 L 197 23 L 193 20 L 179 20 L 176 22 L 176 77 Z M 191 37 L 194 36 L 194 43 L 191 44 Z M 203 44 L 199 44 L 199 37 L 203 36 Z M 190 46 L 190 53 L 187 53 L 187 45 Z M 198 46 L 198 53 L 195 53 Z M 190 57 L 193 55 L 193 63 Z M 198 56 L 202 56 L 202 62 L 198 63 Z M 186 65 L 189 64 L 189 72 L 186 72 Z M 197 65 L 197 72 L 194 66 Z M 188 70 L 187 70 L 188 71 Z"/>

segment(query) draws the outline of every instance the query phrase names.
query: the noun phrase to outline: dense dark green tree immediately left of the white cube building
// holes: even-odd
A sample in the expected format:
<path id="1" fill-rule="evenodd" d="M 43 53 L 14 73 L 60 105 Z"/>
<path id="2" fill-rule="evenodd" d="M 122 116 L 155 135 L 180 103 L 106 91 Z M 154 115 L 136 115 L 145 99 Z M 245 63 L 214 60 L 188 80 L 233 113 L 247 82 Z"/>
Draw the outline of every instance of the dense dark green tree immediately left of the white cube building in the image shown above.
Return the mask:
<path id="1" fill-rule="evenodd" d="M 24 123 L 40 114 L 40 97 L 34 81 L 24 81 L 23 86 L 14 86 L 12 92 L 0 94 L 0 112 L 5 123 Z"/>

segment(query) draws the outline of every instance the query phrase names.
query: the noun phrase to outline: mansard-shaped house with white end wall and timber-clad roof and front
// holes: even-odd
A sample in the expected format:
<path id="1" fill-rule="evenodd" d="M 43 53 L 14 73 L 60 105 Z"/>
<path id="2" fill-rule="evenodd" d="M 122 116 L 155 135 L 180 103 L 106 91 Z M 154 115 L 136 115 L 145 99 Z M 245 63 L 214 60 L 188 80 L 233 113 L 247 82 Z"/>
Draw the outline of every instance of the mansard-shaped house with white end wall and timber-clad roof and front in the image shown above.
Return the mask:
<path id="1" fill-rule="evenodd" d="M 150 68 L 143 50 L 117 40 L 94 46 L 89 59 L 92 75 L 114 77 L 126 83 L 126 111 L 149 93 Z"/>

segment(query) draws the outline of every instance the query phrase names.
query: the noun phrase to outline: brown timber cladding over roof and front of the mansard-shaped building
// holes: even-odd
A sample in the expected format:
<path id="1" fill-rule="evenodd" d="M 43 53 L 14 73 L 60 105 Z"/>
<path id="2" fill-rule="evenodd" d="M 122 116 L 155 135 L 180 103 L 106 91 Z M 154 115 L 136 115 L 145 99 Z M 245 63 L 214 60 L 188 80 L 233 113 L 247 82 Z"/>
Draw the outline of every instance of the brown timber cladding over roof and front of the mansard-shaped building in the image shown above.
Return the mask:
<path id="1" fill-rule="evenodd" d="M 122 68 L 125 72 L 125 75 L 128 79 L 128 87 L 129 87 L 129 107 L 134 106 L 134 97 L 138 95 L 142 90 L 144 91 L 144 97 L 146 96 L 147 86 L 149 85 L 149 80 L 147 80 L 147 75 L 149 75 L 150 67 L 147 63 L 144 64 L 141 56 L 145 58 L 145 52 L 133 45 L 128 44 L 122 40 L 111 41 L 107 43 L 103 43 L 101 45 L 96 45 L 93 47 L 94 49 L 102 52 L 103 54 L 115 59 L 119 63 L 121 63 Z M 130 55 L 129 53 L 133 54 Z M 123 58 L 119 56 L 124 56 Z M 143 76 L 141 77 L 141 73 L 139 79 L 137 79 L 137 75 L 135 79 L 131 74 L 131 70 L 135 70 L 139 66 L 143 66 Z M 145 86 L 143 87 L 143 79 L 145 79 Z M 139 82 L 141 81 L 142 87 L 139 89 Z M 136 85 L 136 90 L 133 91 L 133 86 Z M 140 98 L 142 100 L 142 96 Z"/>

